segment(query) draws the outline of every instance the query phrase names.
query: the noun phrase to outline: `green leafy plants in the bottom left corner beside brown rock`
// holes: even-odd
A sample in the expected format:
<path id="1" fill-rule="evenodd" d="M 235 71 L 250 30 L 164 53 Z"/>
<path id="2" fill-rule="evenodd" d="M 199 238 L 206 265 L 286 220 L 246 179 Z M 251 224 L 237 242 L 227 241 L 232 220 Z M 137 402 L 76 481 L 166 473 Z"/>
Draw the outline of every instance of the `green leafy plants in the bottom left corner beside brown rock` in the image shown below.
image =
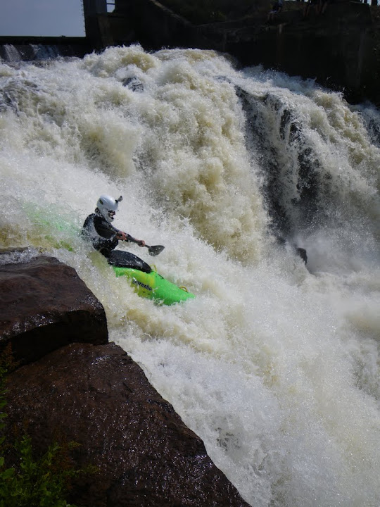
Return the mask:
<path id="1" fill-rule="evenodd" d="M 36 458 L 27 434 L 14 444 L 7 442 L 6 373 L 0 365 L 0 507 L 75 507 L 65 500 L 70 480 L 93 470 L 72 467 L 69 451 L 79 444 L 51 444 L 43 456 Z M 13 456 L 17 465 L 7 468 L 6 456 Z"/>

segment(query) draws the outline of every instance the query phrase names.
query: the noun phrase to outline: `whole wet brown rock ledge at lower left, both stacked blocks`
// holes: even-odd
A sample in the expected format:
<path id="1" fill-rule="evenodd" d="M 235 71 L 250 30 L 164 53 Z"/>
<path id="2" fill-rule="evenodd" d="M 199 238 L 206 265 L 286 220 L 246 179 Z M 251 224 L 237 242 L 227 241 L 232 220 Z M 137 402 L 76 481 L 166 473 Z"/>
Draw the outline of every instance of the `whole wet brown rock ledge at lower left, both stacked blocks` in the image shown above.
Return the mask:
<path id="1" fill-rule="evenodd" d="M 8 375 L 6 432 L 27 427 L 37 453 L 80 444 L 75 466 L 98 472 L 74 482 L 73 503 L 248 506 L 139 365 L 108 343 L 103 306 L 75 270 L 44 256 L 3 260 L 0 294 L 0 347 L 20 361 Z"/>

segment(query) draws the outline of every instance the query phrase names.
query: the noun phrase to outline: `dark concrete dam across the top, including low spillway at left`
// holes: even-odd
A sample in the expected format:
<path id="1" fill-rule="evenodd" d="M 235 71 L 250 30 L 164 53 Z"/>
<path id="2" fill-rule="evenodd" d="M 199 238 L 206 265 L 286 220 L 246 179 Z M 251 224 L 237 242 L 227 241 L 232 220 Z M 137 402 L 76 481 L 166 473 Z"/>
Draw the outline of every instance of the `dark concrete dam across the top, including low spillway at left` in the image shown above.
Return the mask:
<path id="1" fill-rule="evenodd" d="M 86 37 L 1 37 L 5 61 L 84 56 L 108 46 L 139 43 L 162 47 L 214 49 L 237 65 L 262 65 L 315 79 L 343 92 L 350 102 L 380 105 L 380 7 L 339 0 L 323 15 L 303 15 L 301 2 L 286 1 L 271 23 L 266 14 L 241 20 L 193 25 L 156 0 L 83 0 Z"/>

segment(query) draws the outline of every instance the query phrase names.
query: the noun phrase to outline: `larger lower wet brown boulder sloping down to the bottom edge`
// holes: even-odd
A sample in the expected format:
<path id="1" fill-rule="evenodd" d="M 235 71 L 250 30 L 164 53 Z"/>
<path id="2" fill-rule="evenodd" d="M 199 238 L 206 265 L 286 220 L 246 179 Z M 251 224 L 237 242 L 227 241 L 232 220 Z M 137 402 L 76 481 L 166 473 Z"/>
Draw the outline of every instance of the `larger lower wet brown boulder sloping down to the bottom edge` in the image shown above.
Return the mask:
<path id="1" fill-rule="evenodd" d="M 8 377 L 8 428 L 27 425 L 37 452 L 59 436 L 80 445 L 74 484 L 91 507 L 248 507 L 205 446 L 119 346 L 70 344 Z"/>

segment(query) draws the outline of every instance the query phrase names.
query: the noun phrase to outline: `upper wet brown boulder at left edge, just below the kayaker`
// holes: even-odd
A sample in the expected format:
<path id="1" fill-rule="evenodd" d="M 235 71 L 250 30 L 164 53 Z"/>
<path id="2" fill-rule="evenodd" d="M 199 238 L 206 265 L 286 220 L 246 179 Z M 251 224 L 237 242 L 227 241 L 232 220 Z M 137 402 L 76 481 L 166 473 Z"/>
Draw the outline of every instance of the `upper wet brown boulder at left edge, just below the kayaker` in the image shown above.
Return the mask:
<path id="1" fill-rule="evenodd" d="M 25 364 L 73 342 L 108 342 L 104 308 L 76 271 L 47 256 L 0 264 L 0 351 Z"/>

